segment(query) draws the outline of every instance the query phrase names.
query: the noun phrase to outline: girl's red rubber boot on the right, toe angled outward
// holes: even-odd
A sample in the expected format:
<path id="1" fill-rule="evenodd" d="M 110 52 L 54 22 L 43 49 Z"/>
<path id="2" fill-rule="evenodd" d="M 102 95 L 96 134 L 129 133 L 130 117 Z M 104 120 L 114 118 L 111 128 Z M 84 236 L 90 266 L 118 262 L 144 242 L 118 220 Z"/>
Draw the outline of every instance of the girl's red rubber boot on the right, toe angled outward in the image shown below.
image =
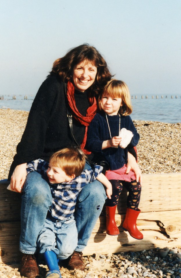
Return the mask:
<path id="1" fill-rule="evenodd" d="M 127 208 L 126 216 L 123 222 L 123 230 L 128 231 L 135 239 L 143 239 L 143 234 L 137 229 L 136 221 L 140 210 L 132 210 Z"/>

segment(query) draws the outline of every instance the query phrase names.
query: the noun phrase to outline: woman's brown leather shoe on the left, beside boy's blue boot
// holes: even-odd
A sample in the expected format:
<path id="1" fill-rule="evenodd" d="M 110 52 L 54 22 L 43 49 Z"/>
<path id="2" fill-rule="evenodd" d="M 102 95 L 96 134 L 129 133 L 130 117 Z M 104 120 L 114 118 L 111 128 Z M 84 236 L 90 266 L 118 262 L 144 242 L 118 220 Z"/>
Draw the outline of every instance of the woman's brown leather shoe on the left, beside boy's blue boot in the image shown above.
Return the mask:
<path id="1" fill-rule="evenodd" d="M 21 276 L 33 278 L 39 275 L 39 268 L 34 255 L 24 254 L 21 259 L 19 270 Z"/>

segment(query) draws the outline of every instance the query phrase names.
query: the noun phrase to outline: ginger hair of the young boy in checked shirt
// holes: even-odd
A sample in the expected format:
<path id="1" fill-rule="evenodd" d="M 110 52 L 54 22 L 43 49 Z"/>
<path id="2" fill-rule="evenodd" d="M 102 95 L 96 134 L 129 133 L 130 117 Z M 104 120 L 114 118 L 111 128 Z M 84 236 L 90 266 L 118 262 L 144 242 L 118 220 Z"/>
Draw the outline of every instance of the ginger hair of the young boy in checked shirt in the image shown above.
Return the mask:
<path id="1" fill-rule="evenodd" d="M 54 167 L 60 167 L 68 176 L 80 176 L 85 167 L 86 155 L 77 148 L 64 148 L 55 152 L 50 163 Z"/>

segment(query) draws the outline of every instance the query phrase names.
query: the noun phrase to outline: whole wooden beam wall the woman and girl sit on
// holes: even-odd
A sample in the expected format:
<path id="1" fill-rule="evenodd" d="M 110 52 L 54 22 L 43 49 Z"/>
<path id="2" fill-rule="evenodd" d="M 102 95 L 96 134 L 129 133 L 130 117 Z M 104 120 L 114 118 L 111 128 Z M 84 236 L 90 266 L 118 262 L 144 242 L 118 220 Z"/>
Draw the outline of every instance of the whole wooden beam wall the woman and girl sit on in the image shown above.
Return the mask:
<path id="1" fill-rule="evenodd" d="M 141 251 L 150 248 L 181 246 L 181 173 L 144 174 L 141 213 L 137 227 L 144 239 L 133 239 L 121 229 L 126 212 L 127 192 L 120 195 L 116 223 L 118 236 L 105 231 L 105 212 L 99 217 L 83 255 Z M 8 182 L 0 181 L 0 263 L 19 261 L 20 203 L 21 195 L 7 190 Z"/>

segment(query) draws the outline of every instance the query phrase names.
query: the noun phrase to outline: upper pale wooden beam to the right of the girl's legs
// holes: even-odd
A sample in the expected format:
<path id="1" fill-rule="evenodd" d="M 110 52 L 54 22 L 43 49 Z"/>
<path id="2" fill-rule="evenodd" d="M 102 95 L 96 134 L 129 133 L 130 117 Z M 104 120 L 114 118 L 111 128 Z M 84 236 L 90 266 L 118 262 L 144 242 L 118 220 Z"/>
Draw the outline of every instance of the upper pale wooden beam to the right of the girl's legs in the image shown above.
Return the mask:
<path id="1" fill-rule="evenodd" d="M 124 204 L 121 206 L 121 204 Z M 180 209 L 181 173 L 143 175 L 139 209 L 143 212 Z M 125 213 L 126 193 L 120 196 L 118 213 Z"/>

